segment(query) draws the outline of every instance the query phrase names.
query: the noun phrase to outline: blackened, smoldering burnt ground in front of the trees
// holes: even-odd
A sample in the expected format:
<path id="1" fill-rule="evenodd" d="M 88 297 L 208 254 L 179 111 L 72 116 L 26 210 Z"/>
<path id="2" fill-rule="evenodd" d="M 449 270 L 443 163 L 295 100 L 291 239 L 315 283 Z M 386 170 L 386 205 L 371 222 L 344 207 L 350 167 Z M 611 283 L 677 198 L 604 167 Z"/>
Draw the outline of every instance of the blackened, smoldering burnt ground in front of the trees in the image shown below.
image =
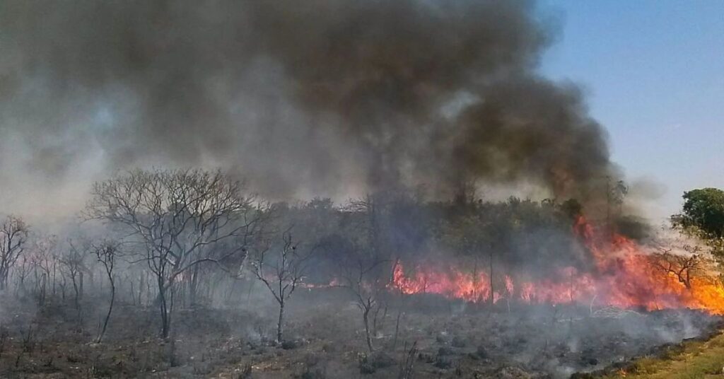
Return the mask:
<path id="1" fill-rule="evenodd" d="M 338 291 L 295 293 L 282 345 L 272 341 L 274 304 L 261 299 L 176 309 L 168 340 L 157 336 L 155 308 L 117 304 L 106 339 L 94 343 L 104 312 L 97 299 L 78 312 L 72 301 L 38 307 L 3 298 L 0 378 L 399 378 L 407 358 L 411 378 L 568 378 L 710 333 L 720 320 L 691 310 L 413 296 L 404 299 L 397 341 L 400 299 L 380 310 L 369 354 L 361 313 Z"/>

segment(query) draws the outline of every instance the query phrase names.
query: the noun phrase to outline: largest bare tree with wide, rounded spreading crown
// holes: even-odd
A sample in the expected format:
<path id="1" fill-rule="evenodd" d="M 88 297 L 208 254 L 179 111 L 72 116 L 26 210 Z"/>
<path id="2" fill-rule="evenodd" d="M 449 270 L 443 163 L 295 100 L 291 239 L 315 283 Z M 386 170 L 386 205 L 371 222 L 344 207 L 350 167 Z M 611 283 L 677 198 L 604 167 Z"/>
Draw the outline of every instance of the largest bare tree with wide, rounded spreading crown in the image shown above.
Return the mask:
<path id="1" fill-rule="evenodd" d="M 88 217 L 124 226 L 156 276 L 164 338 L 174 281 L 202 262 L 243 253 L 264 217 L 242 184 L 219 171 L 134 170 L 94 183 L 91 195 Z"/>

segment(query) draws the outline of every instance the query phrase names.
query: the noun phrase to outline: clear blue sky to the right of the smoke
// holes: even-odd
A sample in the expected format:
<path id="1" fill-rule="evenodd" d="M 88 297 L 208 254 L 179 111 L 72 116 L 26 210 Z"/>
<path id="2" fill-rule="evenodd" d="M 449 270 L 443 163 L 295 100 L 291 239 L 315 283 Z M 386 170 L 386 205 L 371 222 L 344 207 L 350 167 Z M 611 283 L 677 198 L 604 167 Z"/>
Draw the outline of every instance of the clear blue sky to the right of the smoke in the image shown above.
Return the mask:
<path id="1" fill-rule="evenodd" d="M 628 180 L 657 182 L 663 217 L 724 188 L 724 1 L 543 0 L 560 36 L 543 72 L 586 88 Z"/>

